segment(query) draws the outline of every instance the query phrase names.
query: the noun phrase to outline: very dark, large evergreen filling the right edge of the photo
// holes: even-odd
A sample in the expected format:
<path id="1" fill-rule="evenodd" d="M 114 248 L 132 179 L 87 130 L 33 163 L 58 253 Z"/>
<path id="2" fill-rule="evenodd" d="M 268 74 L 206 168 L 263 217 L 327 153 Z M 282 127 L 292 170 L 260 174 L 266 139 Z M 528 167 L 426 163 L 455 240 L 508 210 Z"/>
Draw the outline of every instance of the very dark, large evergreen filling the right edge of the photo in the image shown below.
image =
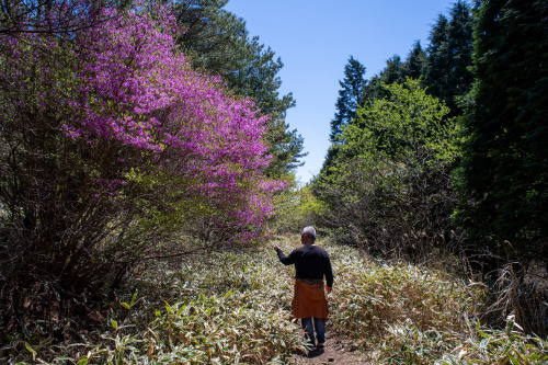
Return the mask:
<path id="1" fill-rule="evenodd" d="M 546 258 L 548 5 L 491 0 L 475 30 L 458 221 L 478 244 Z M 503 242 L 510 242 L 509 244 Z M 500 244 L 500 246 L 498 246 Z"/>

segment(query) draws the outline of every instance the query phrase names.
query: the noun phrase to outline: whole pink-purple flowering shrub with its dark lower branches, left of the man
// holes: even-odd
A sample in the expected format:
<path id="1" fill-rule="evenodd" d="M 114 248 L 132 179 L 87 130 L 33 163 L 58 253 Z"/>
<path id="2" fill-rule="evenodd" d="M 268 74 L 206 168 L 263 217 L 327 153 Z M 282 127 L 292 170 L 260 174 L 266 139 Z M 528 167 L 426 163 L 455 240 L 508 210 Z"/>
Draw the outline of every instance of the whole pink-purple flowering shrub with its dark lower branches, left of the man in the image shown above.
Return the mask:
<path id="1" fill-rule="evenodd" d="M 262 173 L 267 117 L 190 67 L 168 9 L 99 16 L 1 35 L 2 272 L 24 287 L 115 286 L 181 233 L 256 240 L 284 187 Z"/>

